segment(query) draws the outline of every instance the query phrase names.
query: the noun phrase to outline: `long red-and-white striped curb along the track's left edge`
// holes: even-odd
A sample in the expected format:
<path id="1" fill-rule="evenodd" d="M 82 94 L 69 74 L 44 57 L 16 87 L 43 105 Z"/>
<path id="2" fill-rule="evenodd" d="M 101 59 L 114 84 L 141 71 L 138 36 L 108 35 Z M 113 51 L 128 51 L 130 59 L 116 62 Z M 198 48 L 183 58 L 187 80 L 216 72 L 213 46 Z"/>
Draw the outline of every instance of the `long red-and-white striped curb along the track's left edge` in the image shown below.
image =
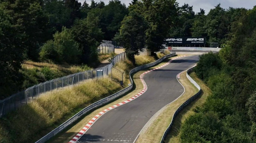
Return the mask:
<path id="1" fill-rule="evenodd" d="M 185 57 L 185 56 L 180 56 L 180 57 Z M 78 134 L 76 134 L 76 136 L 74 136 L 73 139 L 71 139 L 71 140 L 69 141 L 69 143 L 75 143 L 76 141 L 78 141 L 78 140 L 81 138 L 81 136 L 83 136 L 83 135 L 85 134 L 85 132 L 88 131 L 88 129 L 90 129 L 90 127 L 92 126 L 92 124 L 95 123 L 95 121 L 96 121 L 97 119 L 99 119 L 100 116 L 102 116 L 103 114 L 105 114 L 107 111 L 110 111 L 110 110 L 112 110 L 112 109 L 114 109 L 114 108 L 116 108 L 116 107 L 118 107 L 118 106 L 121 106 L 121 105 L 123 105 L 123 104 L 125 104 L 125 103 L 128 103 L 128 102 L 130 102 L 130 101 L 133 101 L 134 99 L 136 99 L 136 98 L 138 98 L 139 96 L 141 96 L 142 94 L 144 94 L 144 93 L 147 91 L 147 85 L 146 85 L 146 83 L 145 83 L 145 81 L 144 81 L 144 79 L 143 79 L 143 76 L 144 76 L 145 74 L 147 74 L 147 73 L 149 73 L 149 72 L 151 72 L 151 71 L 155 71 L 155 70 L 157 70 L 157 69 L 160 69 L 160 68 L 162 68 L 162 67 L 164 67 L 164 66 L 167 66 L 167 65 L 170 64 L 173 60 L 178 59 L 178 58 L 180 58 L 180 57 L 175 57 L 175 58 L 171 59 L 169 62 L 167 62 L 166 64 L 164 64 L 163 66 L 160 66 L 160 67 L 157 67 L 157 68 L 155 68 L 155 69 L 151 69 L 151 70 L 149 70 L 149 71 L 146 71 L 146 72 L 142 73 L 142 74 L 140 75 L 140 80 L 141 80 L 141 82 L 142 82 L 142 84 L 143 84 L 143 89 L 142 89 L 142 91 L 140 91 L 138 94 L 136 94 L 135 96 L 131 97 L 131 98 L 128 99 L 128 100 L 125 100 L 125 101 L 123 101 L 123 102 L 121 102 L 121 103 L 118 103 L 118 104 L 116 104 L 116 105 L 114 105 L 114 106 L 111 106 L 111 107 L 109 107 L 109 108 L 107 108 L 107 109 L 101 111 L 99 114 L 97 114 L 96 116 L 94 116 L 94 117 L 83 127 L 83 129 L 82 129 Z"/>

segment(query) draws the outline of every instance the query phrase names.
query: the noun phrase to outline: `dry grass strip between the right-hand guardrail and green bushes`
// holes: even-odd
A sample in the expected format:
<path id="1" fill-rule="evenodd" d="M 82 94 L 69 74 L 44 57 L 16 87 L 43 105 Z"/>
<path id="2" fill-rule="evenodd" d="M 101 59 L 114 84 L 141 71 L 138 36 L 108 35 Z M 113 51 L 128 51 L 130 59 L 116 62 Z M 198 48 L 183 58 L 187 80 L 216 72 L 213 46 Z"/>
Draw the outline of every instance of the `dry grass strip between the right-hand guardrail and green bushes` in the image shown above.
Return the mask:
<path id="1" fill-rule="evenodd" d="M 204 84 L 203 81 L 201 81 L 201 79 L 197 78 L 197 76 L 195 75 L 195 72 L 192 72 L 190 74 L 190 77 L 192 77 L 192 79 L 194 79 L 194 81 L 197 82 L 197 84 L 199 84 L 199 86 L 202 89 L 202 93 L 195 101 L 190 103 L 189 106 L 184 108 L 178 114 L 178 116 L 176 116 L 175 121 L 173 123 L 173 128 L 166 138 L 166 143 L 181 143 L 180 127 L 182 126 L 186 118 L 195 114 L 193 109 L 197 106 L 199 107 L 202 106 L 202 104 L 204 104 L 209 94 L 211 94 L 211 90 L 206 86 L 206 84 Z"/>

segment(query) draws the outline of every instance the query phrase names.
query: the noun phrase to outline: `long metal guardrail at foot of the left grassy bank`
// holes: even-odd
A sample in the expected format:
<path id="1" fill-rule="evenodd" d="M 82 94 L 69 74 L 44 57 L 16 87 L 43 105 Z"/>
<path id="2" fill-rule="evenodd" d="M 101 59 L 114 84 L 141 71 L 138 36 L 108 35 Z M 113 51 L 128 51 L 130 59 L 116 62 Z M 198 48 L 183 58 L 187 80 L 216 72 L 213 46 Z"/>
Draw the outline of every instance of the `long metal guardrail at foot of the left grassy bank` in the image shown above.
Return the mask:
<path id="1" fill-rule="evenodd" d="M 102 106 L 103 104 L 106 104 L 106 103 L 109 103 L 110 101 L 112 101 L 113 99 L 116 99 L 118 98 L 119 96 L 122 96 L 123 94 L 127 93 L 128 91 L 130 91 L 133 87 L 133 81 L 131 79 L 131 74 L 137 72 L 137 71 L 140 71 L 142 69 L 147 69 L 147 68 L 150 68 L 150 67 L 153 67 L 157 64 L 159 64 L 160 62 L 162 62 L 164 59 L 167 59 L 167 58 L 170 58 L 170 57 L 173 57 L 175 56 L 176 53 L 173 52 L 169 55 L 166 55 L 164 57 L 162 57 L 161 59 L 158 59 L 157 61 L 155 62 L 152 62 L 150 64 L 146 64 L 146 65 L 143 65 L 143 66 L 139 66 L 139 67 L 136 67 L 134 69 L 132 69 L 130 71 L 130 76 L 129 76 L 129 79 L 130 79 L 130 82 L 131 82 L 131 85 L 126 87 L 125 89 L 115 93 L 115 94 L 112 94 L 111 96 L 108 96 L 104 99 L 101 99 L 100 101 L 97 101 L 89 106 L 87 106 L 86 108 L 82 109 L 80 112 L 78 112 L 77 114 L 75 114 L 73 117 L 71 117 L 70 119 L 68 119 L 65 123 L 61 124 L 59 127 L 55 128 L 53 131 L 51 131 L 50 133 L 48 133 L 47 135 L 45 135 L 43 138 L 41 138 L 40 140 L 36 141 L 36 143 L 44 143 L 45 141 L 49 140 L 50 138 L 52 138 L 53 136 L 55 136 L 57 133 L 61 132 L 62 130 L 64 130 L 65 128 L 67 128 L 68 125 L 74 123 L 78 118 L 80 118 L 82 115 L 88 113 L 89 111 L 92 111 L 92 109 L 95 109 L 99 106 Z"/>

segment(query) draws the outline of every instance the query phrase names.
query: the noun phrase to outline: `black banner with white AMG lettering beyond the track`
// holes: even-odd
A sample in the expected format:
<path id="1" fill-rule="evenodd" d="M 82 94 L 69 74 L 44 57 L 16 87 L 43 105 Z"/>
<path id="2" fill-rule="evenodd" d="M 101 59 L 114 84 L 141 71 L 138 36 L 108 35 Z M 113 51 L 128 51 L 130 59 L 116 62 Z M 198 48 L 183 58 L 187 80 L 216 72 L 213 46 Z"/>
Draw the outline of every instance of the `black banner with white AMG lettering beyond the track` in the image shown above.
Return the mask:
<path id="1" fill-rule="evenodd" d="M 166 39 L 166 45 L 204 45 L 206 37 L 171 37 Z"/>

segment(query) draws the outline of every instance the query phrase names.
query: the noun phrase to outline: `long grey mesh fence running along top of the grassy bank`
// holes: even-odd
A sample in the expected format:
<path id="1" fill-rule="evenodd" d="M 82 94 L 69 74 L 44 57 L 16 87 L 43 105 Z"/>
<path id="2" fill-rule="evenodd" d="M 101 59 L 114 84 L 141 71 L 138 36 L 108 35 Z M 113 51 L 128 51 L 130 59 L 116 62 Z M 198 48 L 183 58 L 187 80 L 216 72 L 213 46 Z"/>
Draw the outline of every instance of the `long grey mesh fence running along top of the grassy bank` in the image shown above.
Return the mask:
<path id="1" fill-rule="evenodd" d="M 38 97 L 40 94 L 54 89 L 63 88 L 66 86 L 74 85 L 78 82 L 85 81 L 87 79 L 96 79 L 111 74 L 111 69 L 118 61 L 123 61 L 126 58 L 125 53 L 118 54 L 115 56 L 111 63 L 104 67 L 99 67 L 90 71 L 78 72 L 69 76 L 52 79 L 35 86 L 29 87 L 28 89 L 16 93 L 9 98 L 0 101 L 0 118 L 6 113 L 12 110 L 16 110 L 24 104 L 27 104 L 30 100 Z"/>

